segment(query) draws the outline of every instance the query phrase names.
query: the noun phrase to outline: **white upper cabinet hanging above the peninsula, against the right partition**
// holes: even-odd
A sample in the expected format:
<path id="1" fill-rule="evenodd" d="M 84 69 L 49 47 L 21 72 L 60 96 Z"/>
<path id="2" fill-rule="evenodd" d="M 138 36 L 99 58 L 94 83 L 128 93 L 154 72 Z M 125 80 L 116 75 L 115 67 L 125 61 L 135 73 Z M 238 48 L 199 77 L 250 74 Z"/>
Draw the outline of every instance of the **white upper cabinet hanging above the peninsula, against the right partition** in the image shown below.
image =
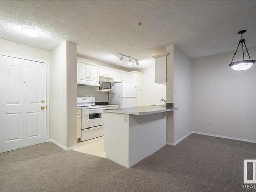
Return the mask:
<path id="1" fill-rule="evenodd" d="M 167 55 L 168 53 L 153 56 L 155 58 L 155 83 L 166 84 L 167 82 Z"/>

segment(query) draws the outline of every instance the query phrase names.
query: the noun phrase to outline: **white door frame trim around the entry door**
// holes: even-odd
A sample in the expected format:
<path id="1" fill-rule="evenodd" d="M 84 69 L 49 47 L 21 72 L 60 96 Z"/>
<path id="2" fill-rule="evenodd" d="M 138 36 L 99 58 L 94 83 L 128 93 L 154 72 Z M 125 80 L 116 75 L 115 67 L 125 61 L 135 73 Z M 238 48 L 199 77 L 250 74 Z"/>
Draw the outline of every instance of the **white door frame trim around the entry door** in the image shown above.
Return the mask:
<path id="1" fill-rule="evenodd" d="M 13 54 L 4 53 L 4 52 L 0 52 L 0 55 L 46 64 L 46 142 L 49 142 L 49 124 L 50 124 L 50 121 L 49 121 L 50 120 L 50 118 L 49 118 L 49 111 L 50 111 L 49 110 L 50 109 L 50 106 L 49 106 L 49 99 L 50 99 L 50 97 L 49 97 L 49 91 L 50 91 L 50 88 L 49 88 L 49 61 L 24 57 L 24 56 L 20 56 L 20 55 L 13 55 Z"/>

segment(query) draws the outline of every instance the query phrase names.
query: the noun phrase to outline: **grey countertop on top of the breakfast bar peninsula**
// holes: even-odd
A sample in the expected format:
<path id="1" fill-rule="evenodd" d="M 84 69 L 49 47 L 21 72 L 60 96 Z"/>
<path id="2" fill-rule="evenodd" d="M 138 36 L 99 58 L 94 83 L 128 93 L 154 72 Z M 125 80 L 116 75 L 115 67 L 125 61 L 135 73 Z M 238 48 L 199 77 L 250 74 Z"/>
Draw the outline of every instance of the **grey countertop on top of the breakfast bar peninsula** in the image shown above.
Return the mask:
<path id="1" fill-rule="evenodd" d="M 108 113 L 121 113 L 130 115 L 148 115 L 167 111 L 174 111 L 178 108 L 166 108 L 164 106 L 135 106 L 133 108 L 104 109 Z"/>

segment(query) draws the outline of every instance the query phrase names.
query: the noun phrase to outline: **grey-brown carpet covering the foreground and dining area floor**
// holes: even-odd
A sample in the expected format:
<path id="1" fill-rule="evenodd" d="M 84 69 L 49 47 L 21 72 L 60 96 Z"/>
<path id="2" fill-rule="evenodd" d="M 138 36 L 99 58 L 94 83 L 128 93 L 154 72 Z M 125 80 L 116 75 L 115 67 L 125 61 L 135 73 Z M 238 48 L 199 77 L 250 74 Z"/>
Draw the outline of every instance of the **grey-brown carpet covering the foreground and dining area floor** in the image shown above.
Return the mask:
<path id="1" fill-rule="evenodd" d="M 256 144 L 191 134 L 126 169 L 42 143 L 0 154 L 0 191 L 242 191 Z"/>

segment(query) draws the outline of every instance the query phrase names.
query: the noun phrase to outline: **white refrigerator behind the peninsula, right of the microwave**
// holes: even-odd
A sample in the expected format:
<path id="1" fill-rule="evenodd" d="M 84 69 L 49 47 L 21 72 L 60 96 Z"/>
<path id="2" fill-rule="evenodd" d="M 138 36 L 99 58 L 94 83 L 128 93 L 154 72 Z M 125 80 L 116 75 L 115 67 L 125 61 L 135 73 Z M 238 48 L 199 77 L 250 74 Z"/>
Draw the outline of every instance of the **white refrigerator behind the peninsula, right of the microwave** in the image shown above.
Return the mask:
<path id="1" fill-rule="evenodd" d="M 115 92 L 109 94 L 110 104 L 120 104 L 121 108 L 137 106 L 136 88 L 132 83 L 115 83 Z"/>

